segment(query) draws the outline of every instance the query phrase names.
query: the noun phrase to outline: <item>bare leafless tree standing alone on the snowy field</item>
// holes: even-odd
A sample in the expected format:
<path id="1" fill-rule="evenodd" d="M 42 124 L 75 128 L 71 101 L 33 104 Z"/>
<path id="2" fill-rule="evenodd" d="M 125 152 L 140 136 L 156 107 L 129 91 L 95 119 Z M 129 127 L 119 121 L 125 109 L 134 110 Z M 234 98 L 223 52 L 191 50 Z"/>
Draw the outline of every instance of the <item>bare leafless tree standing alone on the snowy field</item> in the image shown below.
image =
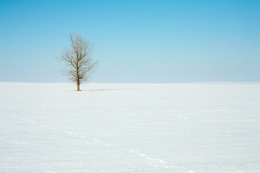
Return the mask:
<path id="1" fill-rule="evenodd" d="M 69 35 L 71 45 L 65 48 L 61 54 L 60 60 L 65 61 L 68 69 L 65 75 L 77 84 L 77 91 L 80 90 L 79 85 L 88 81 L 90 74 L 95 71 L 98 61 L 93 62 L 92 52 L 94 45 L 89 40 L 83 39 L 80 35 Z"/>

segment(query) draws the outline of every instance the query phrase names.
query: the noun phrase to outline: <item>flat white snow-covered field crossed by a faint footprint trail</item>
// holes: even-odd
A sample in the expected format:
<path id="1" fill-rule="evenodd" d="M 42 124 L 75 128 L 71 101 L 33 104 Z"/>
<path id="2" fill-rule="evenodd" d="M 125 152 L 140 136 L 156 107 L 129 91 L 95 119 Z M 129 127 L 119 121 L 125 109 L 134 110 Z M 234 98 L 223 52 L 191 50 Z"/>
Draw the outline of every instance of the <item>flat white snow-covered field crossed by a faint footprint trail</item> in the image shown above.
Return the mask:
<path id="1" fill-rule="evenodd" d="M 0 83 L 0 173 L 260 173 L 260 84 Z"/>

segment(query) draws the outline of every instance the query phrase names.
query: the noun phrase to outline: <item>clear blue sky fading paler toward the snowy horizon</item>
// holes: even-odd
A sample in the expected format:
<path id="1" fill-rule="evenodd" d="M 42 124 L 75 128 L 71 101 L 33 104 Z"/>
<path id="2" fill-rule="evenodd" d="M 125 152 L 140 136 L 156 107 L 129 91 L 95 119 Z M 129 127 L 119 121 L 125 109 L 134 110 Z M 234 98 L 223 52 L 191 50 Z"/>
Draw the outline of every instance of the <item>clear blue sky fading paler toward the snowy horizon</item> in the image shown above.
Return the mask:
<path id="1" fill-rule="evenodd" d="M 90 82 L 260 82 L 260 0 L 0 0 L 0 81 L 67 82 L 80 34 Z"/>

